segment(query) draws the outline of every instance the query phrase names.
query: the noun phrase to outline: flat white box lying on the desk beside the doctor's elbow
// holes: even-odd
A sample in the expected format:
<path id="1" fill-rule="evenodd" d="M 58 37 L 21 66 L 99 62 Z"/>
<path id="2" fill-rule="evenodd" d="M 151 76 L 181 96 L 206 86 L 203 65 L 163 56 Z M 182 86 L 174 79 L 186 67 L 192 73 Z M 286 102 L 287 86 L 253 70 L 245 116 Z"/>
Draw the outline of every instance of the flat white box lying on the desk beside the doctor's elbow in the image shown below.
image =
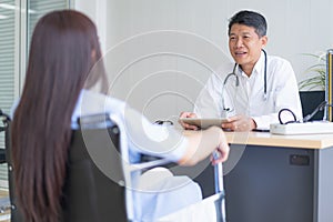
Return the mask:
<path id="1" fill-rule="evenodd" d="M 315 133 L 333 133 L 333 122 L 313 121 L 305 123 L 273 123 L 270 125 L 272 134 L 315 134 Z"/>

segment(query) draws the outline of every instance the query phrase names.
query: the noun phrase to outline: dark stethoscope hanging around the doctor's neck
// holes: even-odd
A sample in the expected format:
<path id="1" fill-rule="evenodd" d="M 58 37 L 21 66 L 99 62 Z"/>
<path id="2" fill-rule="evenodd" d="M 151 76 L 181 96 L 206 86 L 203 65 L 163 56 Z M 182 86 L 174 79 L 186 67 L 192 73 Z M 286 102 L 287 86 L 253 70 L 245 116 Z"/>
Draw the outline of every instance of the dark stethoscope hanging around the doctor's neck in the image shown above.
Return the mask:
<path id="1" fill-rule="evenodd" d="M 263 94 L 263 99 L 264 101 L 268 99 L 268 53 L 265 50 L 263 50 L 263 53 L 264 53 L 264 94 Z M 226 82 L 228 80 L 231 78 L 231 77 L 235 77 L 235 87 L 239 87 L 240 85 L 240 80 L 239 80 L 239 75 L 235 73 L 235 69 L 238 67 L 238 63 L 234 63 L 234 67 L 233 67 L 233 70 L 231 73 L 229 73 L 225 78 L 224 78 L 224 81 L 223 81 L 223 87 L 222 87 L 222 109 L 223 111 L 225 112 L 232 112 L 233 109 L 231 108 L 225 108 L 225 104 L 224 104 L 224 97 L 223 97 L 223 91 L 224 91 L 224 88 L 226 85 Z"/>

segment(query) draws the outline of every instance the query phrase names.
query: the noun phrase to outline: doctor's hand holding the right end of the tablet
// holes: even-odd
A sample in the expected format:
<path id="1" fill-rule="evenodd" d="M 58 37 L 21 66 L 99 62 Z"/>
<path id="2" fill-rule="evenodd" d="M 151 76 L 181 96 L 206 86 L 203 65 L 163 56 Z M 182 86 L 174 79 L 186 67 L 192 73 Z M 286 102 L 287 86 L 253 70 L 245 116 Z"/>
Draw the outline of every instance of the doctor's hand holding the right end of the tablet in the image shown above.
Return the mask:
<path id="1" fill-rule="evenodd" d="M 246 115 L 233 115 L 228 119 L 229 121 L 221 125 L 223 129 L 232 131 L 251 131 L 256 128 L 254 120 Z"/>

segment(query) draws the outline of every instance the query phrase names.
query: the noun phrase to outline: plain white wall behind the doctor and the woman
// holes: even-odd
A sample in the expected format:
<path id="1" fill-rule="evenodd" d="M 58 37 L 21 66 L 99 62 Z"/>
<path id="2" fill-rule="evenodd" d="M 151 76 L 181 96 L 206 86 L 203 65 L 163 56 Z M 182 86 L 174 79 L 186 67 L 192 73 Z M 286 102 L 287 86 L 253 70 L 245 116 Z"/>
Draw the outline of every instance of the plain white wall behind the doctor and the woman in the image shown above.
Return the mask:
<path id="1" fill-rule="evenodd" d="M 265 16 L 268 53 L 290 60 L 299 81 L 315 62 L 302 53 L 333 48 L 332 0 L 77 0 L 75 8 L 97 22 L 111 93 L 151 120 L 192 109 L 210 69 L 230 59 L 228 19 L 239 10 Z"/>

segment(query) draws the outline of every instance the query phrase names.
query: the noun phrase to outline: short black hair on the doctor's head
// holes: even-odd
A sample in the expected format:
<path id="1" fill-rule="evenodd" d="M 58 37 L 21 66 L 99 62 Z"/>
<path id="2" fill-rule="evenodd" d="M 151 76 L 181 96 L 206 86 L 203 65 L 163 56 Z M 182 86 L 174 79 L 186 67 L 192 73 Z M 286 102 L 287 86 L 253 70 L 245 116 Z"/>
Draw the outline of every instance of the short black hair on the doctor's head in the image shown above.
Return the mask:
<path id="1" fill-rule="evenodd" d="M 229 30 L 228 34 L 230 36 L 230 30 L 233 24 L 244 24 L 246 27 L 253 27 L 255 29 L 255 33 L 261 38 L 266 36 L 268 23 L 265 18 L 254 11 L 239 11 L 229 20 Z"/>

